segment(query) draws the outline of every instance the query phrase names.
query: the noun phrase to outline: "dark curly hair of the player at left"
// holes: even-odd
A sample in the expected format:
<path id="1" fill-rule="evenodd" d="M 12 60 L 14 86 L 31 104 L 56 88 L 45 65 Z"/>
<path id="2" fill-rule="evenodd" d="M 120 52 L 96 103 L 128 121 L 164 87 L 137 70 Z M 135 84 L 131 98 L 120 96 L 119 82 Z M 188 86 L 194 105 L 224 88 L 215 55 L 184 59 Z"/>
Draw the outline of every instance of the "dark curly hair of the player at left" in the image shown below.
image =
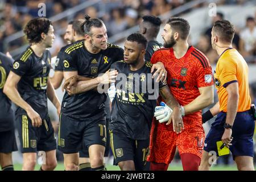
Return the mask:
<path id="1" fill-rule="evenodd" d="M 42 41 L 41 34 L 47 34 L 52 22 L 47 18 L 34 18 L 31 19 L 24 28 L 23 32 L 27 36 L 27 40 L 30 44 L 40 43 Z"/>

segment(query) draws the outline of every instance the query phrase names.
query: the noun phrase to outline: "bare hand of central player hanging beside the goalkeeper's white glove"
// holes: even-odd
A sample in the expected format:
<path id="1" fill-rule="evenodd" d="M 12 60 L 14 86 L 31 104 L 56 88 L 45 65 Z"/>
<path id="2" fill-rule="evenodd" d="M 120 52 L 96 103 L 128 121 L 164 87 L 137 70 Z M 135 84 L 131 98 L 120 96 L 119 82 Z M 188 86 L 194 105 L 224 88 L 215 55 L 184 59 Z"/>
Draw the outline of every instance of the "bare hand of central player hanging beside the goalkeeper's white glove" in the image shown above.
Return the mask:
<path id="1" fill-rule="evenodd" d="M 174 131 L 177 134 L 181 133 L 181 131 L 184 129 L 184 123 L 183 123 L 180 107 L 174 107 L 174 109 L 172 110 L 171 117 L 166 125 L 170 125 L 171 122 L 174 128 Z"/>

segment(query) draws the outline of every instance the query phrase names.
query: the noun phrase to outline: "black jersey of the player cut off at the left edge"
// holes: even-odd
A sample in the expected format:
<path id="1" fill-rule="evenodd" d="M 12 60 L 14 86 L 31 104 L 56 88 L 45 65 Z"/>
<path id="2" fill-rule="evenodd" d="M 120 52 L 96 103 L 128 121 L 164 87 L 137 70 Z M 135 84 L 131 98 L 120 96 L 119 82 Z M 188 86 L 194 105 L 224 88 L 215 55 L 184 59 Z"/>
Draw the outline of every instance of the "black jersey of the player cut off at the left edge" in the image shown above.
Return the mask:
<path id="1" fill-rule="evenodd" d="M 14 115 L 11 109 L 11 101 L 3 93 L 3 86 L 11 67 L 13 59 L 0 52 L 0 132 L 8 131 L 14 127 Z"/>

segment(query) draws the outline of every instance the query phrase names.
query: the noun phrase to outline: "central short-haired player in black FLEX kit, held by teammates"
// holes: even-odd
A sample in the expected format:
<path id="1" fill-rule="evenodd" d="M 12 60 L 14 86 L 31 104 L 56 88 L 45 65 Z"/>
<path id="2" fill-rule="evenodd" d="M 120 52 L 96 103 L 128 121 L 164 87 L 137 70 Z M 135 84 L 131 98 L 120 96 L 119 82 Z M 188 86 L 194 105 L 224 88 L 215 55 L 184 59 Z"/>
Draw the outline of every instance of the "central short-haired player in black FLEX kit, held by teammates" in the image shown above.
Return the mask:
<path id="1" fill-rule="evenodd" d="M 124 171 L 141 171 L 146 164 L 151 122 L 158 98 L 158 94 L 150 98 L 154 95 L 151 89 L 155 92 L 159 88 L 161 96 L 173 109 L 170 122 L 182 124 L 179 103 L 167 84 L 152 79 L 152 64 L 144 61 L 146 47 L 147 40 L 143 35 L 129 35 L 125 42 L 124 61 L 112 65 L 119 74 L 115 82 L 117 94 L 112 103 L 110 143 L 114 164 Z M 124 76 L 125 81 L 122 80 Z"/>

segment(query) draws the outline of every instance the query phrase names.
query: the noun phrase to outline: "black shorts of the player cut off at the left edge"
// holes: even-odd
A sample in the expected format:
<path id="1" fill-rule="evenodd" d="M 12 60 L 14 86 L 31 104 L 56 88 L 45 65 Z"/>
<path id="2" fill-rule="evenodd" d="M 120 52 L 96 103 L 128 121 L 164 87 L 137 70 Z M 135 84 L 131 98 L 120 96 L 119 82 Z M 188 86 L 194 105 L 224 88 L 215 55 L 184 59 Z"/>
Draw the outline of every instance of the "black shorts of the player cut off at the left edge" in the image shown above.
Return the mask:
<path id="1" fill-rule="evenodd" d="M 14 128 L 0 132 L 0 153 L 10 153 L 17 150 Z"/>

